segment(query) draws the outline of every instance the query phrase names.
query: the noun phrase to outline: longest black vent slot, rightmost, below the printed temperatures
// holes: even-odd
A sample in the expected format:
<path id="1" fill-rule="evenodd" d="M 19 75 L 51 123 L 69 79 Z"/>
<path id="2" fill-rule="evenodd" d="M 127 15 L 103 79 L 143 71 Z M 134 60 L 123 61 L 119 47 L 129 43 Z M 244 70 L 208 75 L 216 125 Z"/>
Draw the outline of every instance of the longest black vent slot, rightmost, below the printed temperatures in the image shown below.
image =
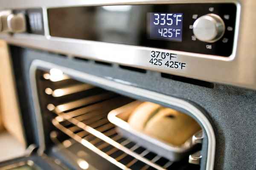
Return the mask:
<path id="1" fill-rule="evenodd" d="M 167 78 L 167 79 L 172 79 L 175 81 L 179 81 L 179 82 L 185 82 L 185 83 L 189 83 L 192 85 L 199 85 L 205 88 L 214 88 L 214 84 L 211 82 L 206 82 L 203 80 L 198 80 L 198 79 L 192 79 L 192 78 L 187 78 L 187 77 L 181 77 L 181 76 L 175 76 L 172 74 L 166 74 L 166 73 L 161 73 L 161 77 L 163 78 Z"/>

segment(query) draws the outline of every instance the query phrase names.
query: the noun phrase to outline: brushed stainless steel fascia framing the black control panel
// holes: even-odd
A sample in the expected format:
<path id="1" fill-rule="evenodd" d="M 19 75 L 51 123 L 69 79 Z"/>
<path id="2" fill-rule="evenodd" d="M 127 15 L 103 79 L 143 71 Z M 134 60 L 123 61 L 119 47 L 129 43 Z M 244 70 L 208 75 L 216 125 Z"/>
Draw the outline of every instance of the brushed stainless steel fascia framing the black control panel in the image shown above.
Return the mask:
<path id="1" fill-rule="evenodd" d="M 205 0 L 3 0 L 0 8 L 29 8 L 43 7 L 44 24 L 46 34 L 26 35 L 15 34 L 13 36 L 1 34 L 0 38 L 10 44 L 54 51 L 68 55 L 85 57 L 108 62 L 116 62 L 122 65 L 130 65 L 169 74 L 201 79 L 209 82 L 218 82 L 236 85 L 244 88 L 256 89 L 256 1 L 255 0 L 207 0 L 207 3 L 236 3 L 237 20 L 234 39 L 233 54 L 230 57 L 220 57 L 205 54 L 195 54 L 182 51 L 161 50 L 132 45 L 120 45 L 105 42 L 87 40 L 73 40 L 49 36 L 47 27 L 48 7 L 57 6 L 90 6 L 112 4 L 148 4 L 148 3 L 204 3 Z M 99 50 L 100 49 L 100 50 Z M 114 49 L 114 50 L 113 50 Z M 186 69 L 173 70 L 151 65 L 151 50 L 170 52 L 177 54 L 177 61 L 186 62 Z"/>

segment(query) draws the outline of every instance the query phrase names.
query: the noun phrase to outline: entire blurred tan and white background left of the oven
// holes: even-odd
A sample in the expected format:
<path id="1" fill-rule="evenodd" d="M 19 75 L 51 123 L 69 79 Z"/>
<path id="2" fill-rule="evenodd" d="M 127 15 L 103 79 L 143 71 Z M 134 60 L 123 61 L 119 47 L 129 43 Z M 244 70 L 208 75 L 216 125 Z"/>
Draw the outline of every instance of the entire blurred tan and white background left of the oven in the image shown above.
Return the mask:
<path id="1" fill-rule="evenodd" d="M 23 156 L 25 140 L 6 42 L 0 41 L 0 162 Z M 3 154 L 4 153 L 4 154 Z"/>

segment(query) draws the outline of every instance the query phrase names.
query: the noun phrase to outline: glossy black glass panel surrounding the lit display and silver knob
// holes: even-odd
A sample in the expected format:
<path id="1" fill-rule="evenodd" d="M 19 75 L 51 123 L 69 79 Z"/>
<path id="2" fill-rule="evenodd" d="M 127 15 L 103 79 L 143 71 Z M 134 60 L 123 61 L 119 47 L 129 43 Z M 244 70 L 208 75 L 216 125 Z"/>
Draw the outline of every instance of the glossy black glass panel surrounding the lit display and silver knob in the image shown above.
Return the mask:
<path id="1" fill-rule="evenodd" d="M 150 39 L 148 33 L 150 13 L 182 14 L 182 26 L 178 26 L 182 29 L 180 32 L 182 36 L 178 41 L 170 41 L 175 40 L 172 38 L 169 40 L 168 38 Z M 196 18 L 209 13 L 218 14 L 226 25 L 224 36 L 214 43 L 201 42 L 193 37 L 192 25 Z M 54 37 L 139 45 L 227 57 L 233 50 L 236 5 L 233 3 L 198 3 L 49 8 L 48 19 L 50 35 Z"/>

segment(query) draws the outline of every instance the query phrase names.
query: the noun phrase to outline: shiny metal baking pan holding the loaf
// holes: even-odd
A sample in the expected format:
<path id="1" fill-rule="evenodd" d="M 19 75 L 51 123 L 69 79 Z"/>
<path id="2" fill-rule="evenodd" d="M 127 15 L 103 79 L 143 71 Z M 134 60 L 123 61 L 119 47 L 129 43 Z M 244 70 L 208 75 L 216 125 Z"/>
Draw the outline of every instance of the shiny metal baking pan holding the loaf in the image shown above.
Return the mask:
<path id="1" fill-rule="evenodd" d="M 128 124 L 127 121 L 130 114 L 141 103 L 142 102 L 140 101 L 131 102 L 108 113 L 108 120 L 116 125 L 117 132 L 122 134 L 122 136 L 127 137 L 131 141 L 136 142 L 148 150 L 151 150 L 152 152 L 157 153 L 158 155 L 163 156 L 171 161 L 179 161 L 185 156 L 188 156 L 190 151 L 195 146 L 195 143 L 192 142 L 192 137 L 183 145 L 177 147 L 134 130 Z"/>

